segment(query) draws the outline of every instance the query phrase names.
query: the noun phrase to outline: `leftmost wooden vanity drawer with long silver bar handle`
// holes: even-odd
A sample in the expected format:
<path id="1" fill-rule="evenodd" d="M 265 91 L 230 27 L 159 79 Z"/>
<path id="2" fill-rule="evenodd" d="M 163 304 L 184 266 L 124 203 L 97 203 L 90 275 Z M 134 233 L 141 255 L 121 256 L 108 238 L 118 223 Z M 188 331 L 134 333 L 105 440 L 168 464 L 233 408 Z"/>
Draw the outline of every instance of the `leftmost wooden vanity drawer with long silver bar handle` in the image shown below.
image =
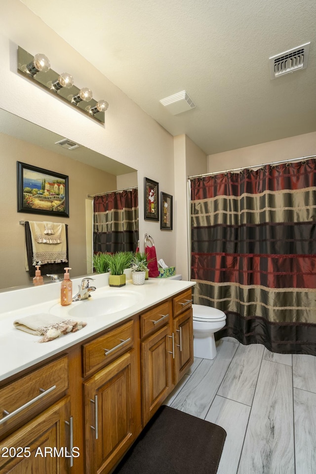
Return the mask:
<path id="1" fill-rule="evenodd" d="M 68 356 L 60 357 L 0 389 L 0 436 L 28 422 L 69 387 Z M 5 416 L 5 413 L 7 413 Z"/>

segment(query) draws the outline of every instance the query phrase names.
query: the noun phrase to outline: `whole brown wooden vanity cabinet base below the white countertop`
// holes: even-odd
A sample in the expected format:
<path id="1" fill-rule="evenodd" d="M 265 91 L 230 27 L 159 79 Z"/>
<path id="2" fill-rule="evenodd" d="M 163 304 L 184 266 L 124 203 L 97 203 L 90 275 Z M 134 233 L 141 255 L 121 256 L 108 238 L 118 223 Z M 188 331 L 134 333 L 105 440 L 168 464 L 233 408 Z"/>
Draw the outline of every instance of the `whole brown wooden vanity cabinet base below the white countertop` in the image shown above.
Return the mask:
<path id="1" fill-rule="evenodd" d="M 3 381 L 0 473 L 111 473 L 191 365 L 192 326 L 190 289 Z"/>

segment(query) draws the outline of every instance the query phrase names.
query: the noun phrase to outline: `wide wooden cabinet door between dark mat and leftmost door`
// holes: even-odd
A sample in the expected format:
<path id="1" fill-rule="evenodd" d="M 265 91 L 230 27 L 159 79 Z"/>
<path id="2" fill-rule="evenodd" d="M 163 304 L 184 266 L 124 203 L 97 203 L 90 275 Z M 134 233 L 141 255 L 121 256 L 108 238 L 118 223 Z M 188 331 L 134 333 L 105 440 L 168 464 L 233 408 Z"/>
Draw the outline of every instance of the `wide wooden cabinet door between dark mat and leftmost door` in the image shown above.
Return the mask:
<path id="1" fill-rule="evenodd" d="M 105 474 L 140 431 L 135 351 L 84 383 L 86 473 Z"/>

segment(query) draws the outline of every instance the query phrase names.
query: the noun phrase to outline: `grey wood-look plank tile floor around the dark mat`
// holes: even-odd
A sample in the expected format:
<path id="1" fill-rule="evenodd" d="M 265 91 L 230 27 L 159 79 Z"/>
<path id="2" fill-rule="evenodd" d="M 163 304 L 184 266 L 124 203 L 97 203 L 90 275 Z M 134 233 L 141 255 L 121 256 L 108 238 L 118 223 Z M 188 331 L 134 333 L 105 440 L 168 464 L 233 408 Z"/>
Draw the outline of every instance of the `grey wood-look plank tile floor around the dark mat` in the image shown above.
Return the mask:
<path id="1" fill-rule="evenodd" d="M 226 430 L 217 474 L 316 474 L 314 356 L 224 338 L 165 403 Z"/>

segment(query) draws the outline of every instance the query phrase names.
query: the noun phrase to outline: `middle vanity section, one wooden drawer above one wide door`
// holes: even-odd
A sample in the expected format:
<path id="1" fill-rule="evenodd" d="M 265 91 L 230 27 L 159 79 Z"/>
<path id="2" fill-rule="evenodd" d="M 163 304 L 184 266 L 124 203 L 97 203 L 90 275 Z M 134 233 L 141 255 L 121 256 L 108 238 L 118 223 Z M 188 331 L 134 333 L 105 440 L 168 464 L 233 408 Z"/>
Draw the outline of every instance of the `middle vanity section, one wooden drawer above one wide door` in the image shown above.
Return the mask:
<path id="1" fill-rule="evenodd" d="M 83 383 L 85 472 L 107 474 L 142 429 L 138 317 L 92 344 L 98 355 L 101 346 L 106 351 L 103 349 L 104 367 Z M 99 366 L 100 358 L 92 353 L 92 347 L 88 351 L 85 345 L 84 354 Z"/>

